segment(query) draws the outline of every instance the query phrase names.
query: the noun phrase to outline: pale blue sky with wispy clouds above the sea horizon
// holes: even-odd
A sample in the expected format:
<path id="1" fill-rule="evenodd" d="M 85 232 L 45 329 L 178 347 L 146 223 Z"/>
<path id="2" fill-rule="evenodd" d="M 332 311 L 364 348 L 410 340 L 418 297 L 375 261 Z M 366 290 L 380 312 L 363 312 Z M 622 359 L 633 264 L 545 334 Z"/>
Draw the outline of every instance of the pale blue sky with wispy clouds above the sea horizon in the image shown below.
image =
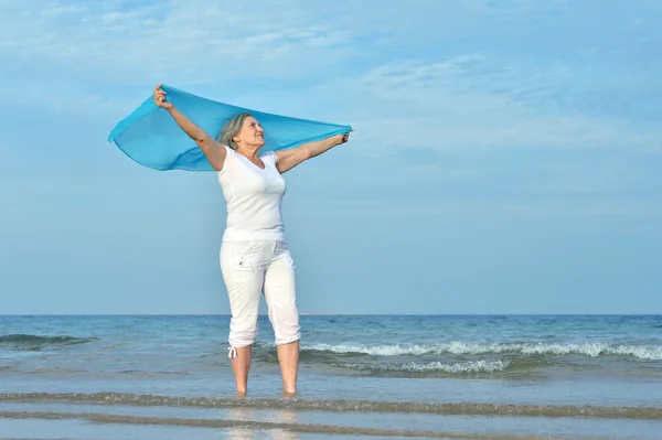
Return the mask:
<path id="1" fill-rule="evenodd" d="M 662 313 L 659 1 L 0 0 L 0 313 L 227 313 L 158 83 L 351 124 L 286 174 L 302 313 Z M 263 309 L 264 310 L 264 309 Z"/>

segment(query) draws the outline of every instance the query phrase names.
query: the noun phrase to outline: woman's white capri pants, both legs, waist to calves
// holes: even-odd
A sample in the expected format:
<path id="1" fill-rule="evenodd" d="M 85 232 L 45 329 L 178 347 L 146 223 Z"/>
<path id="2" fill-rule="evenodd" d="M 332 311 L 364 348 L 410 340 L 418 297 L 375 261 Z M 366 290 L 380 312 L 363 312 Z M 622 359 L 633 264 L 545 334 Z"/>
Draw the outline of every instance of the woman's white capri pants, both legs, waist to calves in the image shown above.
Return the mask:
<path id="1" fill-rule="evenodd" d="M 301 337 L 295 264 L 282 242 L 223 242 L 221 271 L 229 297 L 229 356 L 255 343 L 257 314 L 264 293 L 276 344 Z M 235 352 L 236 354 L 236 352 Z"/>

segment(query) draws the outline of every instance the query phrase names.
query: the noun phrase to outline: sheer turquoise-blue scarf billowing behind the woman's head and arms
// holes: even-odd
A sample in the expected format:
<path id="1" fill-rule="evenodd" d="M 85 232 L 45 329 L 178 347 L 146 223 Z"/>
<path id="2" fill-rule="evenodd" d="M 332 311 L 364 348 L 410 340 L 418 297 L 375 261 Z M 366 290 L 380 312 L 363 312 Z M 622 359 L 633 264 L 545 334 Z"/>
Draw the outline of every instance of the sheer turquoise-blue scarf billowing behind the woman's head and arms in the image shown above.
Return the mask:
<path id="1" fill-rule="evenodd" d="M 229 118 L 238 112 L 250 112 L 265 130 L 265 146 L 260 151 L 285 150 L 352 131 L 351 126 L 256 111 L 170 86 L 161 87 L 170 103 L 214 139 Z M 154 170 L 214 171 L 197 144 L 166 109 L 157 106 L 153 95 L 117 124 L 108 142 L 115 142 L 134 161 Z"/>

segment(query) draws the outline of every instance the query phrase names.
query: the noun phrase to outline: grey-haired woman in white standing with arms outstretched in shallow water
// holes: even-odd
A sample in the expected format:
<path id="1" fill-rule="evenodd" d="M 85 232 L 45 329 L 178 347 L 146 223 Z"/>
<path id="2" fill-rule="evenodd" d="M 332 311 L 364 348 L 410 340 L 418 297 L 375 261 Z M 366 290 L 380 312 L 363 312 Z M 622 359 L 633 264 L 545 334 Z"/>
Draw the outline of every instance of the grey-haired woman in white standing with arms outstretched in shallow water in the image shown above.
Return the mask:
<path id="1" fill-rule="evenodd" d="M 247 391 L 250 348 L 257 336 L 259 298 L 264 292 L 276 335 L 284 395 L 293 396 L 301 334 L 295 266 L 285 242 L 280 212 L 286 189 L 281 174 L 346 142 L 349 133 L 259 154 L 265 137 L 252 115 L 234 116 L 218 138 L 213 139 L 167 101 L 161 85 L 154 88 L 154 101 L 170 112 L 204 152 L 216 170 L 227 204 L 221 270 L 232 312 L 228 351 L 236 394 L 245 396 Z"/>

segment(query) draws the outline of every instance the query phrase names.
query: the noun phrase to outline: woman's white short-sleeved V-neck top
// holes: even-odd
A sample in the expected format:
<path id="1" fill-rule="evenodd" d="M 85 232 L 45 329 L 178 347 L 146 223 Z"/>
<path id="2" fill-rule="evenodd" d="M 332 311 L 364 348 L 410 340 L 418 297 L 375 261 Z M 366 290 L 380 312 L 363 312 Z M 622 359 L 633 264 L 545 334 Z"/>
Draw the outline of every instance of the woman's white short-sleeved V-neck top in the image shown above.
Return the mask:
<path id="1" fill-rule="evenodd" d="M 285 179 L 276 169 L 276 153 L 260 154 L 260 169 L 248 158 L 225 147 L 227 154 L 217 172 L 227 204 L 227 221 L 223 240 L 285 242 L 280 203 L 285 195 Z"/>

